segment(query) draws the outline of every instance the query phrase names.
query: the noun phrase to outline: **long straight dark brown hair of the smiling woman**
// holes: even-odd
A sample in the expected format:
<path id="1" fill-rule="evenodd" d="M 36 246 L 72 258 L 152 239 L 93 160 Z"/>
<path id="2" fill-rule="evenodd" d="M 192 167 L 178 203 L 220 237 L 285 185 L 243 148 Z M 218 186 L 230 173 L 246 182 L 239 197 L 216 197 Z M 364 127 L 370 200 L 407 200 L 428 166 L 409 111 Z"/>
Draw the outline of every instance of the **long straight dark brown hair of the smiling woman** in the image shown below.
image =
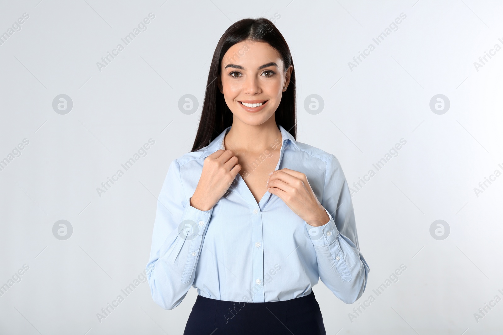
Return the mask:
<path id="1" fill-rule="evenodd" d="M 232 112 L 218 89 L 217 78 L 220 76 L 221 62 L 227 50 L 244 40 L 269 43 L 281 55 L 285 71 L 293 65 L 292 55 L 283 35 L 268 19 L 243 19 L 229 27 L 218 41 L 213 53 L 201 119 L 191 152 L 206 147 L 227 127 L 232 126 Z M 292 69 L 290 83 L 283 92 L 281 102 L 276 109 L 275 120 L 277 125 L 281 125 L 297 139 L 295 68 Z"/>

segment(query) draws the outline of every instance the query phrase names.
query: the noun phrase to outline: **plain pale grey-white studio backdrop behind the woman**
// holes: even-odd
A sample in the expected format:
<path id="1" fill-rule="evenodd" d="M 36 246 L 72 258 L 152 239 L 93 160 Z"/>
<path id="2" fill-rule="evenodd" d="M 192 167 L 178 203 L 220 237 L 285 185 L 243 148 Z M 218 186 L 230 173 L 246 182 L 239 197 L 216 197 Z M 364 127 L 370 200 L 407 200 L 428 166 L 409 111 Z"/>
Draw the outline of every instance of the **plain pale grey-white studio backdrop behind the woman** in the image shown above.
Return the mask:
<path id="1" fill-rule="evenodd" d="M 474 192 L 503 172 L 503 50 L 474 66 L 503 47 L 501 2 L 3 1 L 0 34 L 23 13 L 29 19 L 0 45 L 0 160 L 29 141 L 0 171 L 0 285 L 29 270 L 0 297 L 0 333 L 183 332 L 194 288 L 166 311 L 142 282 L 101 322 L 97 313 L 148 261 L 156 197 L 171 161 L 192 148 L 218 39 L 233 22 L 275 13 L 297 76 L 298 141 L 334 154 L 351 186 L 406 140 L 353 196 L 370 267 L 363 296 L 347 305 L 321 281 L 314 287 L 327 334 L 501 331 L 503 302 L 474 317 L 503 298 L 503 176 Z M 149 13 L 147 30 L 100 71 L 101 57 Z M 58 94 L 70 96 L 70 113 L 55 113 Z M 178 108 L 185 94 L 199 101 L 192 115 Z M 310 94 L 322 97 L 321 113 L 304 109 Z M 447 113 L 430 109 L 436 94 L 448 97 Z M 101 183 L 150 138 L 147 155 L 100 197 Z M 65 241 L 52 233 L 60 219 L 73 227 Z M 441 241 L 430 235 L 437 219 L 450 227 Z M 398 281 L 376 296 L 400 264 Z"/>

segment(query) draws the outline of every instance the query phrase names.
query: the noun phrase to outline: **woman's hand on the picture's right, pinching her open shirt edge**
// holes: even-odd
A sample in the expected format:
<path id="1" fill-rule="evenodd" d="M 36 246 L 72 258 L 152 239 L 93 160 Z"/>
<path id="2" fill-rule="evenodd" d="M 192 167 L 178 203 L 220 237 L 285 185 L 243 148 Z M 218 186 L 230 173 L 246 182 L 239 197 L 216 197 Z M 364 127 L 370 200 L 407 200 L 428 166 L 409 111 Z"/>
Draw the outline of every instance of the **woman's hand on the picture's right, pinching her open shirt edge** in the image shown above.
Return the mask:
<path id="1" fill-rule="evenodd" d="M 319 203 L 305 174 L 283 168 L 274 171 L 269 177 L 269 193 L 276 194 L 288 207 L 309 225 L 325 225 L 330 217 Z"/>

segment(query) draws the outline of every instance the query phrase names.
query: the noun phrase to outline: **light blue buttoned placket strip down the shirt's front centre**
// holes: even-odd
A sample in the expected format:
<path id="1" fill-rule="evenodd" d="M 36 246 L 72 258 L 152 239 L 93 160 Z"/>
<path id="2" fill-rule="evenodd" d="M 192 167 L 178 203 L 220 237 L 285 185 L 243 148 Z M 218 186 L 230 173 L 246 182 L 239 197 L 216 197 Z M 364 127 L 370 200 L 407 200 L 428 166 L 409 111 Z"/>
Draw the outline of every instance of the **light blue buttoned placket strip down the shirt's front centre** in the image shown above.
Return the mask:
<path id="1" fill-rule="evenodd" d="M 263 231 L 262 231 L 262 212 L 257 207 L 251 209 L 251 234 L 252 241 L 255 241 L 253 251 L 251 253 L 251 261 L 253 263 L 253 278 L 252 280 L 252 300 L 254 302 L 265 302 L 264 297 L 264 248 Z"/>

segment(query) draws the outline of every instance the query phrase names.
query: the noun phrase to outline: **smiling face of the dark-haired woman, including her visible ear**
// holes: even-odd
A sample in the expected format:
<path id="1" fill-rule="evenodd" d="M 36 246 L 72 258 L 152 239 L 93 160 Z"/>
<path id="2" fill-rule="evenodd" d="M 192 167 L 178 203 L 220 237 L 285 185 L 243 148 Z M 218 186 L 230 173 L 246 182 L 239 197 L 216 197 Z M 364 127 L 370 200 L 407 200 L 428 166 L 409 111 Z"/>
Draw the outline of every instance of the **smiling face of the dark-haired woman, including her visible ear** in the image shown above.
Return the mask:
<path id="1" fill-rule="evenodd" d="M 269 120 L 288 88 L 293 66 L 286 73 L 283 69 L 280 54 L 266 42 L 247 40 L 230 47 L 222 59 L 218 86 L 234 117 L 254 126 Z"/>

